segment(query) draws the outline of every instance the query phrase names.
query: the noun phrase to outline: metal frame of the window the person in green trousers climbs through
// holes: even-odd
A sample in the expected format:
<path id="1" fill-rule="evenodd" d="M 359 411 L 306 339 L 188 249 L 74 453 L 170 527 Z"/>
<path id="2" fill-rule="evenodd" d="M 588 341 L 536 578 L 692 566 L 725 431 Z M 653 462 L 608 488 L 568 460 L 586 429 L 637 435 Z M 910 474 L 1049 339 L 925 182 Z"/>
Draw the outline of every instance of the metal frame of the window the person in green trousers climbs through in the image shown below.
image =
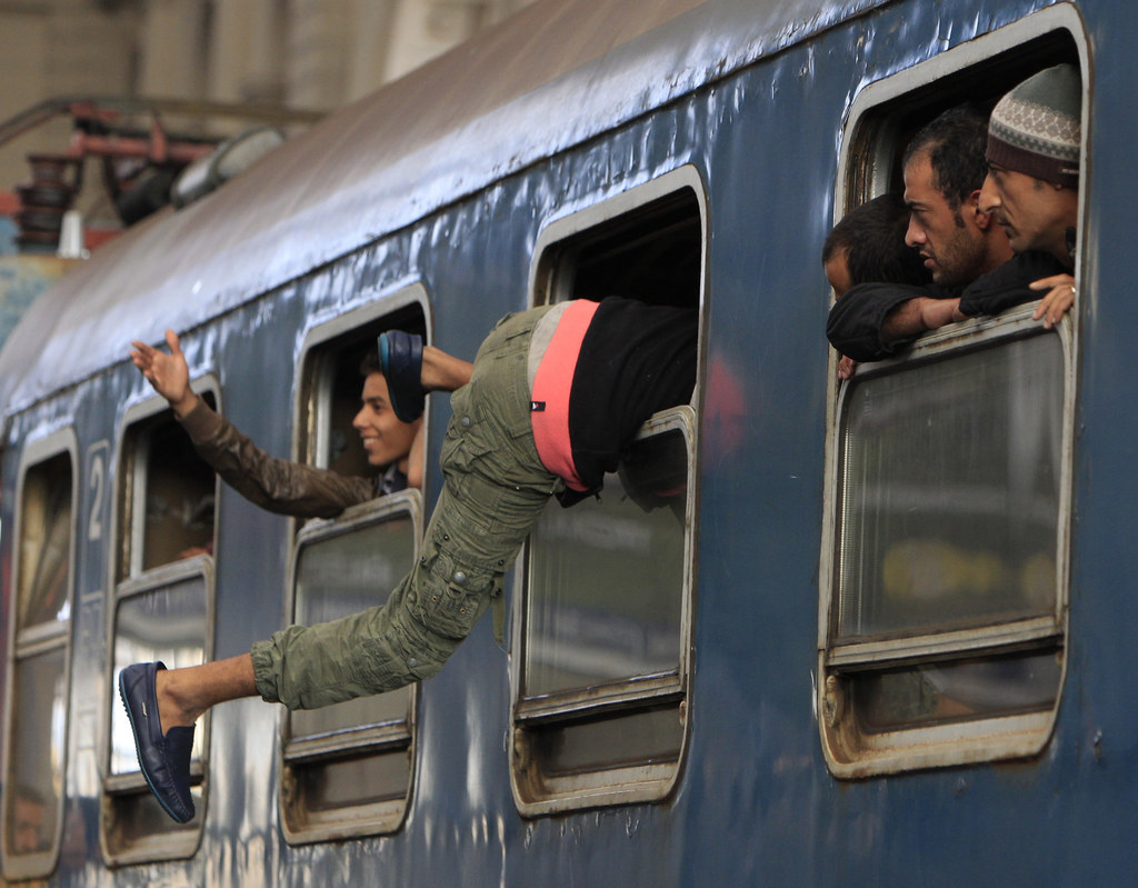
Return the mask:
<path id="1" fill-rule="evenodd" d="M 567 215 L 552 220 L 538 235 L 530 264 L 529 293 L 534 306 L 559 302 L 570 294 L 559 283 L 567 262 L 587 249 L 589 232 L 603 231 L 607 225 L 619 224 L 621 217 L 630 222 L 637 214 L 650 214 L 652 204 L 666 211 L 669 198 L 695 202 L 700 224 L 699 271 L 699 343 L 696 383 L 691 404 L 677 405 L 651 417 L 637 434 L 637 439 L 673 430 L 681 430 L 687 447 L 687 502 L 685 507 L 684 576 L 682 579 L 679 650 L 677 673 L 659 674 L 644 679 L 626 679 L 579 691 L 526 697 L 526 657 L 513 657 L 510 669 L 510 783 L 514 805 L 523 816 L 541 816 L 582 808 L 661 801 L 668 798 L 683 775 L 691 738 L 692 675 L 694 672 L 694 622 L 699 552 L 700 435 L 699 405 L 704 385 L 707 274 L 709 213 L 707 187 L 698 168 L 685 164 L 642 184 L 617 194 L 593 197 L 587 206 L 574 208 Z M 651 222 L 646 215 L 645 222 Z M 578 247 L 574 241 L 582 242 Z M 533 550 L 527 541 L 522 557 L 513 569 L 511 650 L 527 649 L 526 622 L 529 612 L 529 589 Z M 653 704 L 675 702 L 682 723 L 679 749 L 676 759 L 667 763 L 641 763 L 630 766 L 589 768 L 572 775 L 542 774 L 534 762 L 529 732 L 552 723 L 585 724 L 591 716 L 619 713 L 643 715 L 653 710 Z"/>

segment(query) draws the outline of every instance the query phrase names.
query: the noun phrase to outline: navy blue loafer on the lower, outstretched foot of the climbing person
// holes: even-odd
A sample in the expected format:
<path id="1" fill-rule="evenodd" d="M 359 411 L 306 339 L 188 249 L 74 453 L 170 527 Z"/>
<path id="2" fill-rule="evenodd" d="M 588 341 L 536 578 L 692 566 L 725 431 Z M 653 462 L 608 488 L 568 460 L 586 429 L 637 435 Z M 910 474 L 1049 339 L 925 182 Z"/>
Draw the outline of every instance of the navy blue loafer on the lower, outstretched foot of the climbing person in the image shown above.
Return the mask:
<path id="1" fill-rule="evenodd" d="M 118 673 L 118 696 L 134 733 L 142 776 L 158 804 L 179 823 L 193 820 L 193 797 L 190 795 L 190 754 L 193 749 L 192 727 L 171 727 L 163 735 L 158 721 L 158 669 L 160 663 L 135 663 Z"/>

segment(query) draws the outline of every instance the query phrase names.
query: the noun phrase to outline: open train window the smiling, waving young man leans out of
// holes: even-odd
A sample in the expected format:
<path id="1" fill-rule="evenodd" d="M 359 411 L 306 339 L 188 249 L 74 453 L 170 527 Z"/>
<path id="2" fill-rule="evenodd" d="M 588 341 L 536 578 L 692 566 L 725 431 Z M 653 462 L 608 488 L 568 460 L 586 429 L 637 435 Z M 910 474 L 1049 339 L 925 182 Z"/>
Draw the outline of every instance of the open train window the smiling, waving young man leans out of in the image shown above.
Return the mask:
<path id="1" fill-rule="evenodd" d="M 311 462 L 341 474 L 393 479 L 369 462 L 353 418 L 373 380 L 364 363 L 377 336 L 402 329 L 427 337 L 420 286 L 381 296 L 316 328 L 302 367 L 302 441 Z M 394 439 L 409 443 L 396 430 Z M 402 450 L 402 444 L 396 447 Z M 396 466 L 397 468 L 397 466 Z M 381 606 L 414 564 L 422 536 L 422 494 L 403 490 L 333 520 L 311 521 L 294 550 L 292 619 L 321 623 Z M 281 737 L 281 822 L 291 842 L 391 832 L 406 814 L 414 774 L 418 685 L 284 716 Z"/>

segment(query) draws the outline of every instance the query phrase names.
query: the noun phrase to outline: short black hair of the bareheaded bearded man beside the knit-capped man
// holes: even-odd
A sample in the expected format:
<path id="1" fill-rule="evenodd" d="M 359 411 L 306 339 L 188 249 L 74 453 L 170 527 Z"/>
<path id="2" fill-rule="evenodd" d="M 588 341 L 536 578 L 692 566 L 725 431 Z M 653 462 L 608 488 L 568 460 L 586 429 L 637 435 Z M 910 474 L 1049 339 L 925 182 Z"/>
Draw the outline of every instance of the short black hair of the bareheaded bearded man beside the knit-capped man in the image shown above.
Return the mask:
<path id="1" fill-rule="evenodd" d="M 906 146 L 902 166 L 918 153 L 929 155 L 933 187 L 959 219 L 960 204 L 983 187 L 988 175 L 988 116 L 974 105 L 958 105 L 926 123 Z"/>

